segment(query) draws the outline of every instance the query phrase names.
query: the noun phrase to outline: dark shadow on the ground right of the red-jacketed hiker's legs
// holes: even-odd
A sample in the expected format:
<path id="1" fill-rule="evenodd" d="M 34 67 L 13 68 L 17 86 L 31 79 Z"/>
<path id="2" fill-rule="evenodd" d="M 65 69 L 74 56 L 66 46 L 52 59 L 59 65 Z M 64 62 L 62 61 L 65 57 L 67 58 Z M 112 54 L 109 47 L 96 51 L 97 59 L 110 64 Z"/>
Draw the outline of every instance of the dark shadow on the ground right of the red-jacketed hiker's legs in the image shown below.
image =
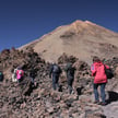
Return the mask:
<path id="1" fill-rule="evenodd" d="M 108 99 L 106 101 L 107 104 L 110 104 L 111 102 L 117 102 L 118 101 L 118 93 L 108 91 Z"/>

